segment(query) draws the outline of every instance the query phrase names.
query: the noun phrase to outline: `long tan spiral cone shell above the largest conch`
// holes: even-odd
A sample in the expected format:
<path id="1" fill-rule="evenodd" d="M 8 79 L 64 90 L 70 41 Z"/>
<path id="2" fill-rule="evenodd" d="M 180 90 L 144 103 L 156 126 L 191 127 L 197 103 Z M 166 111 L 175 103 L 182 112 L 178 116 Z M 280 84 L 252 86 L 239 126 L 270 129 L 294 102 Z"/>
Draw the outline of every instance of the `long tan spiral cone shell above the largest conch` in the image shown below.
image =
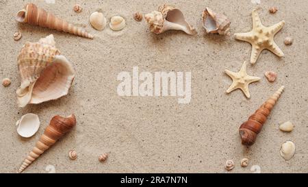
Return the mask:
<path id="1" fill-rule="evenodd" d="M 40 27 L 48 27 L 49 29 L 56 29 L 57 31 L 67 32 L 92 39 L 93 36 L 79 27 L 67 23 L 61 18 L 57 18 L 50 12 L 42 8 L 38 8 L 33 3 L 25 5 L 23 10 L 20 10 L 16 15 L 16 21 L 21 23 L 29 23 L 30 25 L 38 25 Z"/>

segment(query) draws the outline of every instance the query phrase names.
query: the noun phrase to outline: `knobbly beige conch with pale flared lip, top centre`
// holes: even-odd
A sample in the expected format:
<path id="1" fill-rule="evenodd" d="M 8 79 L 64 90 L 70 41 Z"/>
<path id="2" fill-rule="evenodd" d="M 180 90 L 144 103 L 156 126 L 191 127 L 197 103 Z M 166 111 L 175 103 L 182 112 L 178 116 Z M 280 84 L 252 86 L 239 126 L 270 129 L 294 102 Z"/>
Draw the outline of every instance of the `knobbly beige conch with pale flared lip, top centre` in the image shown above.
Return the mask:
<path id="1" fill-rule="evenodd" d="M 167 30 L 182 30 L 190 35 L 196 34 L 196 29 L 185 21 L 181 10 L 170 5 L 159 6 L 158 11 L 146 14 L 144 18 L 149 23 L 151 32 L 155 34 Z"/>

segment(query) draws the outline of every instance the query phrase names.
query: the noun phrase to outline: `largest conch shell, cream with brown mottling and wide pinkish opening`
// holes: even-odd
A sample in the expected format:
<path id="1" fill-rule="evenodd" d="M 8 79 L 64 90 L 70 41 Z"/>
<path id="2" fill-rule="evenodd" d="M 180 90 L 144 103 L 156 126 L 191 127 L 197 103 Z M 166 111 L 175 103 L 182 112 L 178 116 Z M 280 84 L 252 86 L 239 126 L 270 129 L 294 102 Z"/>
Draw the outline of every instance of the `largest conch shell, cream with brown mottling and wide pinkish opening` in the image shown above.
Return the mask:
<path id="1" fill-rule="evenodd" d="M 27 42 L 18 55 L 21 86 L 16 90 L 19 107 L 58 99 L 68 94 L 75 77 L 73 65 L 55 48 L 53 35 Z"/>

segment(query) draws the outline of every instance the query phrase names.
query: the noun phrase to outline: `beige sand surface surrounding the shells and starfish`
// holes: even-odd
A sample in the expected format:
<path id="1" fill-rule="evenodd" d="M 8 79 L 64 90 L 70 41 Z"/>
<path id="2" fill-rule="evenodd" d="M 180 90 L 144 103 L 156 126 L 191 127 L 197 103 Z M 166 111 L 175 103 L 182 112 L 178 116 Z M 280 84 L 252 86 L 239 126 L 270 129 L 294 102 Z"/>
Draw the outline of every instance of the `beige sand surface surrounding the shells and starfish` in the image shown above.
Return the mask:
<path id="1" fill-rule="evenodd" d="M 47 173 L 224 173 L 226 160 L 235 162 L 231 173 L 253 173 L 258 165 L 261 173 L 307 173 L 308 171 L 308 23 L 307 1 L 263 1 L 254 5 L 243 1 L 60 1 L 47 4 L 33 1 L 67 21 L 85 27 L 94 40 L 62 32 L 18 24 L 14 16 L 29 1 L 1 0 L 0 56 L 1 79 L 10 77 L 12 85 L 0 86 L 0 172 L 14 173 L 27 153 L 56 114 L 77 116 L 77 127 L 44 153 L 25 171 Z M 73 12 L 75 3 L 84 10 Z M 188 22 L 198 31 L 196 36 L 183 32 L 155 35 L 144 21 L 133 20 L 133 12 L 148 13 L 158 5 L 170 3 L 180 8 Z M 270 14 L 268 8 L 277 6 Z M 231 19 L 231 37 L 205 35 L 201 12 L 208 6 Z M 251 45 L 236 41 L 235 32 L 248 32 L 252 27 L 251 11 L 261 7 L 259 15 L 269 26 L 285 20 L 275 41 L 285 53 L 278 58 L 263 51 L 257 64 L 248 64 L 248 74 L 261 77 L 251 84 L 251 99 L 240 90 L 225 94 L 231 79 L 224 69 L 238 71 L 249 60 Z M 88 23 L 91 12 L 98 8 L 109 20 L 120 14 L 127 27 L 112 32 L 107 27 L 97 32 Z M 23 38 L 14 41 L 20 30 Z M 49 34 L 55 36 L 57 47 L 73 62 L 77 77 L 69 95 L 57 101 L 18 108 L 15 90 L 20 84 L 16 58 L 26 41 L 38 41 Z M 283 39 L 294 38 L 287 47 Z M 119 97 L 116 76 L 121 71 L 191 71 L 192 101 L 178 104 L 176 97 Z M 264 72 L 278 73 L 277 82 L 269 83 Z M 238 127 L 281 85 L 285 92 L 272 111 L 255 145 L 247 149 L 240 143 Z M 16 133 L 16 121 L 28 112 L 40 116 L 40 129 L 31 138 Z M 292 121 L 294 132 L 279 131 L 279 123 Z M 296 154 L 289 161 L 279 154 L 281 144 L 292 140 Z M 78 153 L 75 161 L 68 151 Z M 108 152 L 107 162 L 100 163 L 99 154 Z M 248 158 L 249 166 L 240 167 Z"/>

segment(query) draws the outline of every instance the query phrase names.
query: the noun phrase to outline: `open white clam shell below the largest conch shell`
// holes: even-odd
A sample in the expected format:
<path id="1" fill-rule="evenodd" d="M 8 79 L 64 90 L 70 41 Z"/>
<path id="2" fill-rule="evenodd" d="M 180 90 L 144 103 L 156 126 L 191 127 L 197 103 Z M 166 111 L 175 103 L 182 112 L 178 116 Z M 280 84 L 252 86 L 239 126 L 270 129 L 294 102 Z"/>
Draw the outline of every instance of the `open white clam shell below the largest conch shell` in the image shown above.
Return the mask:
<path id="1" fill-rule="evenodd" d="M 16 122 L 17 133 L 24 138 L 29 138 L 38 132 L 40 119 L 36 114 L 25 114 Z"/>

